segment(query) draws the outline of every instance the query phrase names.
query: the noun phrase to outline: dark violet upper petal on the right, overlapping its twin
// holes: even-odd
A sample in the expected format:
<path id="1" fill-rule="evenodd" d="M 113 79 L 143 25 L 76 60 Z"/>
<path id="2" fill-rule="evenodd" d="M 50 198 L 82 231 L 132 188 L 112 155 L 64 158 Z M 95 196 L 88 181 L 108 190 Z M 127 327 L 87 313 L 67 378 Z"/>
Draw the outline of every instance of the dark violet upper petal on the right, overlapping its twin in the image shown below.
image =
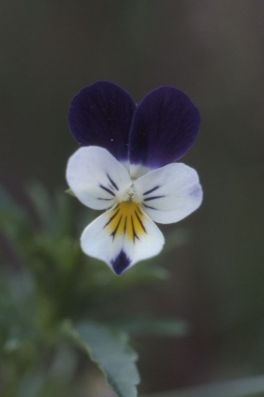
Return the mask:
<path id="1" fill-rule="evenodd" d="M 132 118 L 131 164 L 162 167 L 192 146 L 200 125 L 198 109 L 182 91 L 162 86 L 139 103 Z"/>

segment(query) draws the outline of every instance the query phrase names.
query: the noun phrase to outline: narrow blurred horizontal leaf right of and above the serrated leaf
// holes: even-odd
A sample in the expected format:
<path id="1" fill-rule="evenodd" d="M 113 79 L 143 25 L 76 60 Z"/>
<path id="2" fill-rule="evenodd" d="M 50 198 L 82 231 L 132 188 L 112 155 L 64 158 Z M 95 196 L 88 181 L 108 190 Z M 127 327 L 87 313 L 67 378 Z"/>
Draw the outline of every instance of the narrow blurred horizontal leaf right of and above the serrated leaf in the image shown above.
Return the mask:
<path id="1" fill-rule="evenodd" d="M 183 320 L 136 317 L 119 324 L 119 327 L 132 335 L 153 335 L 179 337 L 188 334 L 188 325 Z"/>

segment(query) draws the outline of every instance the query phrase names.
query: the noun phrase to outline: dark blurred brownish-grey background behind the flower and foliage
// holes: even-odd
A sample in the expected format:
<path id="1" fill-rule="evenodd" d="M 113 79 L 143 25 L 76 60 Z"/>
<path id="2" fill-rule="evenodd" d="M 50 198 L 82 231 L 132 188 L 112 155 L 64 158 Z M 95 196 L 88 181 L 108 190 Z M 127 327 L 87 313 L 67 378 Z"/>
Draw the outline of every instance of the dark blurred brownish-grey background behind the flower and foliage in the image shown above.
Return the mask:
<path id="1" fill-rule="evenodd" d="M 1 183 L 17 202 L 31 180 L 66 189 L 67 110 L 86 85 L 113 81 L 137 103 L 170 85 L 200 111 L 183 162 L 202 206 L 178 225 L 188 239 L 164 263 L 170 280 L 127 307 L 190 332 L 137 342 L 141 390 L 263 374 L 263 0 L 1 0 L 0 20 Z"/>

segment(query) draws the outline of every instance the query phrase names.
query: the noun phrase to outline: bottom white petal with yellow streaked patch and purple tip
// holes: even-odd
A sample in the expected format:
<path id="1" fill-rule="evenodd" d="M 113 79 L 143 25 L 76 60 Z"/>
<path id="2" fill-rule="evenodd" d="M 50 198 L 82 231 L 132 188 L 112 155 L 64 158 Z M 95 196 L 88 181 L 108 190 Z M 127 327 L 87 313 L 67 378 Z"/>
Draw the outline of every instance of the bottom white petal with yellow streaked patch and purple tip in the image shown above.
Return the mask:
<path id="1" fill-rule="evenodd" d="M 163 244 L 161 231 L 132 201 L 117 203 L 90 223 L 81 235 L 83 252 L 106 262 L 116 274 L 157 255 Z"/>

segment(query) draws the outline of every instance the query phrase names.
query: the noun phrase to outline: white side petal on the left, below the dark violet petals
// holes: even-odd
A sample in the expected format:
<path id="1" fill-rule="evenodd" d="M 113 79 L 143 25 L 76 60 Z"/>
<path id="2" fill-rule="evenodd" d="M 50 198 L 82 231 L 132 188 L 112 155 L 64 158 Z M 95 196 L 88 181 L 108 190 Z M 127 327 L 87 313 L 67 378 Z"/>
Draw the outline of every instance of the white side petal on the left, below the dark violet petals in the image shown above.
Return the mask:
<path id="1" fill-rule="evenodd" d="M 73 153 L 66 180 L 75 196 L 94 209 L 112 206 L 132 184 L 125 167 L 99 146 L 80 147 Z"/>

